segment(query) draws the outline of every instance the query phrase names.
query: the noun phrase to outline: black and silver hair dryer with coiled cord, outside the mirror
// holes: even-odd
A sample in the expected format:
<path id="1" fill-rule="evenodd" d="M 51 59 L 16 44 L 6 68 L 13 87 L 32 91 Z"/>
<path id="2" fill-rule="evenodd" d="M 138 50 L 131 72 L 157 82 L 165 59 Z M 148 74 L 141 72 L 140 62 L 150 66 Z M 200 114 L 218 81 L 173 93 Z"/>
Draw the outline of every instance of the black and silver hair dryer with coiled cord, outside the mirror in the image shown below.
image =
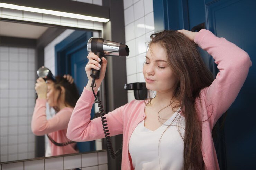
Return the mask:
<path id="1" fill-rule="evenodd" d="M 87 51 L 93 52 L 94 54 L 99 56 L 100 59 L 104 56 L 128 56 L 130 52 L 128 46 L 126 46 L 125 44 L 105 40 L 103 38 L 95 38 L 95 37 L 92 37 L 88 40 Z M 102 60 L 100 64 L 102 64 Z M 108 148 L 110 157 L 115 159 L 122 153 L 122 146 L 116 152 L 113 150 L 113 146 L 109 136 L 110 133 L 107 127 L 107 121 L 105 120 L 106 117 L 104 117 L 105 115 L 104 109 L 103 109 L 103 106 L 101 105 L 102 102 L 99 100 L 97 101 L 96 94 L 93 90 L 93 87 L 96 87 L 95 80 L 100 78 L 100 70 L 91 69 L 90 76 L 92 77 L 91 87 L 95 97 L 94 102 L 98 103 L 98 107 L 100 111 L 99 113 L 101 115 L 100 117 L 101 117 L 103 131 L 106 138 L 107 148 Z"/>

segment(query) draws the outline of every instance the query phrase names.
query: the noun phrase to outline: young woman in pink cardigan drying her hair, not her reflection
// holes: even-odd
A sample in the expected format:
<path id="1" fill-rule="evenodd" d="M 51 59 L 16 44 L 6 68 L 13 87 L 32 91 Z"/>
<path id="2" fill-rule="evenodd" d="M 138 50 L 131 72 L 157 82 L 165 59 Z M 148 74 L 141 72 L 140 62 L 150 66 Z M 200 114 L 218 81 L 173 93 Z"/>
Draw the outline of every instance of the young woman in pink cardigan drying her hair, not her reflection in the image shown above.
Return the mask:
<path id="1" fill-rule="evenodd" d="M 123 134 L 122 169 L 219 169 L 212 128 L 230 107 L 248 74 L 248 54 L 210 31 L 162 31 L 152 34 L 143 74 L 156 96 L 106 114 L 111 136 Z M 213 79 L 196 44 L 218 64 Z M 74 141 L 104 138 L 100 118 L 90 120 L 94 103 L 90 70 L 99 70 L 98 56 L 88 55 L 88 84 L 72 113 L 67 137 Z M 107 60 L 102 58 L 98 89 Z"/>

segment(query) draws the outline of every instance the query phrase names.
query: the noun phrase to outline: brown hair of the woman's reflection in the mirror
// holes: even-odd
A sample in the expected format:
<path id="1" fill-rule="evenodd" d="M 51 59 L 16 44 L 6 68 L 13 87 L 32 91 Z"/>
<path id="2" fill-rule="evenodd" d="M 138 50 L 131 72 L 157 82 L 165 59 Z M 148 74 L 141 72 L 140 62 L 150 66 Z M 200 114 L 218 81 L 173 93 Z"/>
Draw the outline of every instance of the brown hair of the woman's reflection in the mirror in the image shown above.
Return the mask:
<path id="1" fill-rule="evenodd" d="M 57 98 L 57 103 L 61 97 L 61 86 L 63 86 L 65 88 L 64 104 L 65 106 L 69 105 L 74 108 L 77 100 L 79 99 L 79 93 L 75 83 L 73 82 L 72 84 L 70 84 L 70 82 L 68 82 L 68 80 L 62 76 L 56 76 L 55 78 L 56 82 L 54 82 L 53 87 L 55 88 L 55 90 L 58 90 L 60 92 Z M 53 108 L 56 112 L 60 111 L 57 106 L 54 106 Z"/>

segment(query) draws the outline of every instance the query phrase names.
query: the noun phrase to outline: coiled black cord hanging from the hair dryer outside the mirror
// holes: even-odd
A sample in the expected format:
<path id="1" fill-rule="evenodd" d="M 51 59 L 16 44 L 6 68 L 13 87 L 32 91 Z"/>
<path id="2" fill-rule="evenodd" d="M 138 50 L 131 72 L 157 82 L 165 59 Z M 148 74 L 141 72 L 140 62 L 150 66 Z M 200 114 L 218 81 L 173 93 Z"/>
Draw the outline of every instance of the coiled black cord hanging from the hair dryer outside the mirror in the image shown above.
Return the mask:
<path id="1" fill-rule="evenodd" d="M 114 149 L 113 149 L 113 146 L 112 146 L 112 142 L 110 140 L 110 133 L 109 133 L 109 130 L 108 127 L 107 127 L 107 120 L 106 117 L 103 117 L 106 113 L 104 112 L 104 109 L 103 109 L 103 106 L 101 105 L 102 104 L 102 101 L 98 100 L 97 101 L 97 96 L 93 90 L 94 87 L 96 87 L 96 83 L 95 83 L 95 77 L 92 78 L 92 84 L 91 84 L 91 87 L 92 87 L 92 92 L 94 94 L 94 97 L 95 97 L 95 100 L 94 102 L 95 103 L 98 103 L 98 107 L 99 107 L 99 113 L 100 113 L 100 117 L 101 117 L 101 121 L 102 121 L 102 125 L 103 125 L 103 131 L 104 131 L 104 134 L 105 134 L 105 138 L 106 138 L 106 143 L 107 143 L 107 148 L 108 148 L 108 152 L 109 152 L 109 155 L 111 158 L 113 159 L 116 159 L 123 151 L 123 144 L 121 145 L 121 148 L 119 148 L 116 152 L 114 152 Z"/>

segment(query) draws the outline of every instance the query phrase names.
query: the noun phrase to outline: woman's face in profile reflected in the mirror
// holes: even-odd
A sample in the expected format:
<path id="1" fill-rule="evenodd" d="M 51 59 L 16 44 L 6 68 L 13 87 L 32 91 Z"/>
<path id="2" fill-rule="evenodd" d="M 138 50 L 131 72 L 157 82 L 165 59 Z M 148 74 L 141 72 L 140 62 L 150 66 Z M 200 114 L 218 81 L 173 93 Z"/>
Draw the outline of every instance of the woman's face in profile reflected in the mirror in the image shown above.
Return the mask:
<path id="1" fill-rule="evenodd" d="M 57 99 L 59 95 L 59 91 L 54 88 L 53 82 L 47 83 L 47 94 L 46 94 L 46 100 L 49 103 L 49 106 L 54 107 L 57 106 Z"/>

